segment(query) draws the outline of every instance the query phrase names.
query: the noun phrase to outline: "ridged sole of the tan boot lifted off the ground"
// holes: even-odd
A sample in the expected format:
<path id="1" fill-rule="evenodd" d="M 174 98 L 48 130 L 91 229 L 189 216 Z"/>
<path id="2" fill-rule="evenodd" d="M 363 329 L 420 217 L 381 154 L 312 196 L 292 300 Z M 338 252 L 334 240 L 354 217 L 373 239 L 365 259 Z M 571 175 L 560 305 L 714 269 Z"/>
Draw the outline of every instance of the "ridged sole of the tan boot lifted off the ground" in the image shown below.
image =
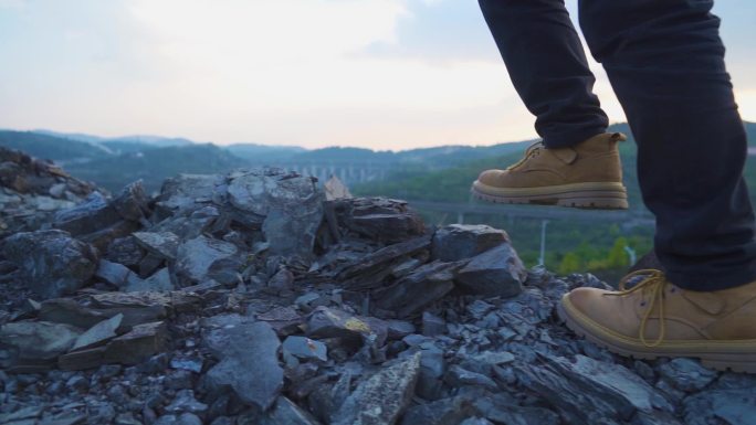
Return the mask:
<path id="1" fill-rule="evenodd" d="M 594 210 L 627 210 L 628 191 L 622 183 L 588 182 L 539 188 L 496 188 L 475 180 L 473 196 L 508 204 L 558 205 Z"/>

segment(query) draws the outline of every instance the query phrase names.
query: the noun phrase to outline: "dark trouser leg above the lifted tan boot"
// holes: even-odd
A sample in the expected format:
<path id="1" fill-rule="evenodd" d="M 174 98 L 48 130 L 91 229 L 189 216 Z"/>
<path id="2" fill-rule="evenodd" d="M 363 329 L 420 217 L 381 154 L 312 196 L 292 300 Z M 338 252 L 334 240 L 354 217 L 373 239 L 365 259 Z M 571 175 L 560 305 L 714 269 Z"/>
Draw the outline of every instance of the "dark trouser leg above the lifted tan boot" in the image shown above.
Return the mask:
<path id="1" fill-rule="evenodd" d="M 615 0 L 606 0 L 615 1 Z M 479 0 L 510 77 L 549 148 L 605 132 L 594 74 L 564 0 Z"/>

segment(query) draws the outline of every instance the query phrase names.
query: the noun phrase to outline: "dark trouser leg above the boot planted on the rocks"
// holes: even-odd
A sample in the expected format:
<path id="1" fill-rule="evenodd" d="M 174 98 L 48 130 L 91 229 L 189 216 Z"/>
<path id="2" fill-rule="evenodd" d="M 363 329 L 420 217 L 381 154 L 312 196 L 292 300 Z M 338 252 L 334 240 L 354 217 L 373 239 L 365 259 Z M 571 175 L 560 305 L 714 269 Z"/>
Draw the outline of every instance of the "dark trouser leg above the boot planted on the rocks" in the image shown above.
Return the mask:
<path id="1" fill-rule="evenodd" d="M 693 290 L 756 279 L 746 135 L 711 0 L 581 0 L 580 24 L 638 141 L 668 277 Z"/>

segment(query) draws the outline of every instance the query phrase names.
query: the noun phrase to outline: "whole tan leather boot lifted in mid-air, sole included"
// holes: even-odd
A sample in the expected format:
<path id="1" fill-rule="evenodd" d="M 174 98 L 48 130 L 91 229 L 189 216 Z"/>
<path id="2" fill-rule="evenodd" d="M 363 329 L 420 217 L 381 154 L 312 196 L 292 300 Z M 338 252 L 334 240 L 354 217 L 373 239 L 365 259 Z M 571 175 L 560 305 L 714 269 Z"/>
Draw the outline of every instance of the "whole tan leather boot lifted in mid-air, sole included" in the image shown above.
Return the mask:
<path id="1" fill-rule="evenodd" d="M 627 209 L 619 141 L 621 132 L 594 136 L 575 147 L 546 149 L 538 142 L 505 170 L 483 171 L 472 185 L 476 198 L 587 209 Z"/>

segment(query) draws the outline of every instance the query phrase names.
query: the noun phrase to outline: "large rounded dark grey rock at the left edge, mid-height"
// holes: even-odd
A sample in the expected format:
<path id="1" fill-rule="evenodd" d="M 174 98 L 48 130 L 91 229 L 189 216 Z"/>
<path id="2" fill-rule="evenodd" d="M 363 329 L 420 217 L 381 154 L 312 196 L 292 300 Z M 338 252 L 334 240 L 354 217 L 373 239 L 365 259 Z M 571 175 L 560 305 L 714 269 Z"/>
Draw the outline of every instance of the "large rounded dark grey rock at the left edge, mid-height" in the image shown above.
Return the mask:
<path id="1" fill-rule="evenodd" d="M 17 233 L 3 241 L 3 248 L 30 288 L 43 298 L 76 291 L 97 268 L 97 252 L 63 231 Z"/>

